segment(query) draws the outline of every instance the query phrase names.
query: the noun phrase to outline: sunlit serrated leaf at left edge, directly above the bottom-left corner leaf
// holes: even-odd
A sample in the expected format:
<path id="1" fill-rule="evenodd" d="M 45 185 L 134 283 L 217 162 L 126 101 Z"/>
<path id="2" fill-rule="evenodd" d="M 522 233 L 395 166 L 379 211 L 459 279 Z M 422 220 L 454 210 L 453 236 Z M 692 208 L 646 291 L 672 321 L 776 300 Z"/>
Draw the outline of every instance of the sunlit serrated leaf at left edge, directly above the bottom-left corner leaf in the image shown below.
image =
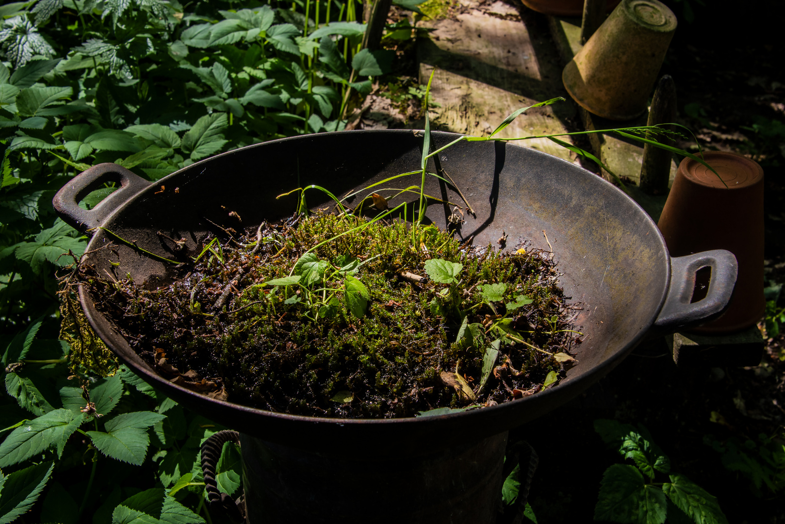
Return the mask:
<path id="1" fill-rule="evenodd" d="M 27 421 L 0 444 L 0 467 L 19 464 L 51 447 L 57 447 L 58 458 L 63 456 L 65 443 L 81 424 L 82 413 L 68 409 L 55 409 Z"/>

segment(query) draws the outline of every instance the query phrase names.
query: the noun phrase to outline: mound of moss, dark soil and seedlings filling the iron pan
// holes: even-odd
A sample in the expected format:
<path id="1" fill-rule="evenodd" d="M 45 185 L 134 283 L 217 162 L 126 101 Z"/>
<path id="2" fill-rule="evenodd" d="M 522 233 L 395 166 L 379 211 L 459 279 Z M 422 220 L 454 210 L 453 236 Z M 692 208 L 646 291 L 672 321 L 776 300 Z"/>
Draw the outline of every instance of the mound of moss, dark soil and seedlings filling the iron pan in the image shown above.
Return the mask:
<path id="1" fill-rule="evenodd" d="M 534 394 L 574 361 L 577 332 L 544 251 L 502 254 L 433 225 L 334 214 L 202 246 L 159 288 L 81 274 L 137 354 L 213 398 L 415 416 Z"/>

